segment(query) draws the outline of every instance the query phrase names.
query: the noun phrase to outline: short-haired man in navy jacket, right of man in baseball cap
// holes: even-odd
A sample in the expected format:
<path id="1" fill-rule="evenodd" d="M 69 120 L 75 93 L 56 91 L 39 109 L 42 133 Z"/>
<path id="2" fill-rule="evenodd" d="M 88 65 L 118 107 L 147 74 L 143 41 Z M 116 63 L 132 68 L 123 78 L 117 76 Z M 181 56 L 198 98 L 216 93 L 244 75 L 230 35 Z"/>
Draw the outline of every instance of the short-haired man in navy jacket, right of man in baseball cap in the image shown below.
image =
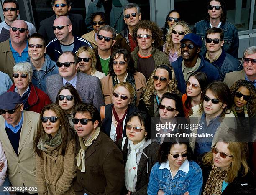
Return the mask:
<path id="1" fill-rule="evenodd" d="M 203 56 L 206 61 L 218 68 L 220 79 L 222 81 L 226 73 L 243 69 L 243 66 L 236 58 L 225 52 L 223 48 L 224 33 L 221 28 L 210 28 L 207 30 L 205 37 L 205 46 L 207 50 Z"/>

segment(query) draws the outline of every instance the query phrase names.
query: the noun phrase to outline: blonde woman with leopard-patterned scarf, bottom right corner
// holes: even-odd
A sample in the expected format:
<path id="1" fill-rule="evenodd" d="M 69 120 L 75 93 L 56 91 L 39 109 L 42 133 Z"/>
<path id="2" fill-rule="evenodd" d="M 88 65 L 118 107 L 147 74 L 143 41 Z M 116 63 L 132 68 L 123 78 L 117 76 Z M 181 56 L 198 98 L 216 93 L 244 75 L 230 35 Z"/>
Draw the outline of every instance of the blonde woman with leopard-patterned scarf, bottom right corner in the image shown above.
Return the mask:
<path id="1" fill-rule="evenodd" d="M 247 145 L 219 141 L 204 157 L 212 166 L 203 195 L 256 194 L 253 175 L 246 162 Z"/>

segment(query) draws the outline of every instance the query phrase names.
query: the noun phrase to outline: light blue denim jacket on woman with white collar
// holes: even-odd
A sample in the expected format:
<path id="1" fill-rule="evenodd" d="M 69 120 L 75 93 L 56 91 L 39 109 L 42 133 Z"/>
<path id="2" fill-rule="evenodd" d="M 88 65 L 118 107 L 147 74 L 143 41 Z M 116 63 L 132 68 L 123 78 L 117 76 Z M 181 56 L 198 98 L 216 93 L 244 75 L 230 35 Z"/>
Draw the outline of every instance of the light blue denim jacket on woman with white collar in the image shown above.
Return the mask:
<path id="1" fill-rule="evenodd" d="M 171 172 L 167 169 L 159 169 L 160 163 L 157 162 L 151 170 L 148 195 L 157 195 L 159 190 L 164 195 L 183 195 L 189 192 L 191 195 L 200 195 L 202 192 L 202 170 L 196 162 L 189 160 L 188 173 L 178 170 L 172 179 Z"/>

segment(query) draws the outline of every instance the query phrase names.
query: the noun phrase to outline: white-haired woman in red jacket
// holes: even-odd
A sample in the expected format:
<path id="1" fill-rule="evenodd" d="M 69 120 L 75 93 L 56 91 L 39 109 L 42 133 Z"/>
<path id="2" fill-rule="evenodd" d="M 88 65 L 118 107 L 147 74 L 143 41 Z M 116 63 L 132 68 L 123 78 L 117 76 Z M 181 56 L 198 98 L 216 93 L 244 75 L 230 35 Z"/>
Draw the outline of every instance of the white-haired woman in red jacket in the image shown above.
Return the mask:
<path id="1" fill-rule="evenodd" d="M 32 84 L 32 75 L 33 71 L 30 63 L 17 63 L 13 66 L 14 84 L 8 91 L 20 94 L 24 110 L 40 113 L 45 105 L 51 104 L 51 100 L 44 91 Z"/>

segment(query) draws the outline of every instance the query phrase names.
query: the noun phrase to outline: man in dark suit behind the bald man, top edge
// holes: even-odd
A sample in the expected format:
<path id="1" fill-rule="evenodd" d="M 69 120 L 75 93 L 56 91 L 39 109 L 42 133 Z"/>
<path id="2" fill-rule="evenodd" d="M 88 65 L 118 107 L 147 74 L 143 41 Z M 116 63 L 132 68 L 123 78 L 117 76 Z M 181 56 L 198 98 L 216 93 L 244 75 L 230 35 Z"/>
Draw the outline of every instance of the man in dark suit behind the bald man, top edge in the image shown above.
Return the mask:
<path id="1" fill-rule="evenodd" d="M 46 39 L 46 43 L 49 43 L 55 37 L 54 30 L 52 29 L 54 20 L 59 16 L 67 16 L 72 23 L 72 33 L 74 36 L 82 36 L 86 33 L 86 26 L 81 14 L 69 13 L 71 10 L 71 0 L 51 0 L 52 10 L 54 15 L 46 18 L 40 22 L 38 33 L 43 35 Z"/>

